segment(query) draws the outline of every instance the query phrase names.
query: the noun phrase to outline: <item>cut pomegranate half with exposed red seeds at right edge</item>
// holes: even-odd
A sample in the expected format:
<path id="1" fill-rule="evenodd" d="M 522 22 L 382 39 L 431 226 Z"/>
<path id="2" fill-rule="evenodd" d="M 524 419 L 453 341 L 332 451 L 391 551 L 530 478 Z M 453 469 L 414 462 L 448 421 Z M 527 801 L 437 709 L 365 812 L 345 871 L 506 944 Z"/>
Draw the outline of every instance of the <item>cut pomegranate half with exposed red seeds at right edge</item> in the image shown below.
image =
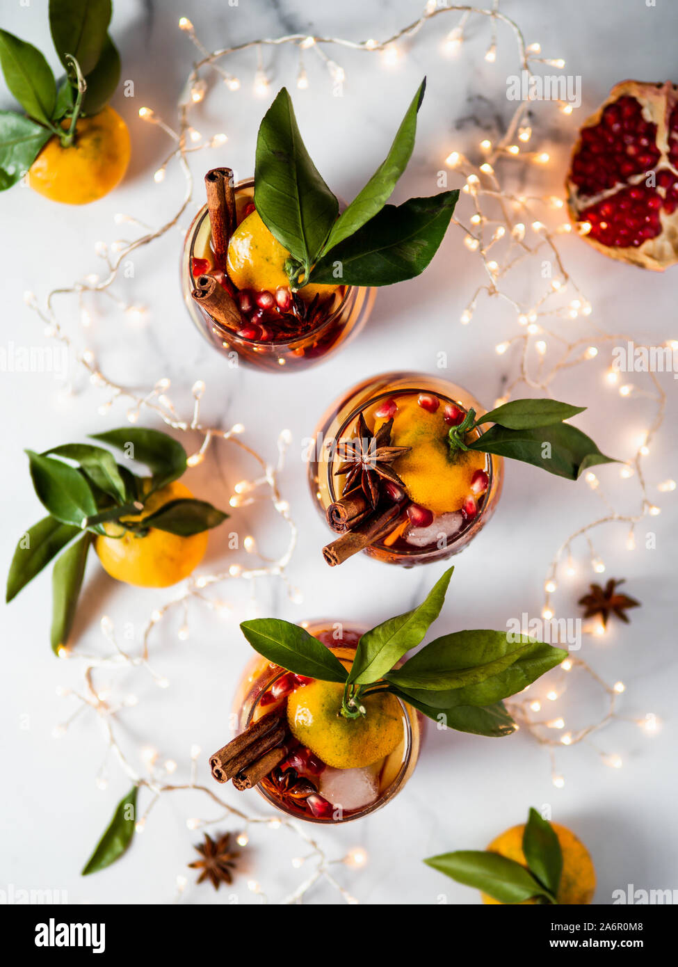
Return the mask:
<path id="1" fill-rule="evenodd" d="M 656 272 L 678 262 L 678 87 L 616 84 L 579 131 L 567 190 L 604 255 Z"/>

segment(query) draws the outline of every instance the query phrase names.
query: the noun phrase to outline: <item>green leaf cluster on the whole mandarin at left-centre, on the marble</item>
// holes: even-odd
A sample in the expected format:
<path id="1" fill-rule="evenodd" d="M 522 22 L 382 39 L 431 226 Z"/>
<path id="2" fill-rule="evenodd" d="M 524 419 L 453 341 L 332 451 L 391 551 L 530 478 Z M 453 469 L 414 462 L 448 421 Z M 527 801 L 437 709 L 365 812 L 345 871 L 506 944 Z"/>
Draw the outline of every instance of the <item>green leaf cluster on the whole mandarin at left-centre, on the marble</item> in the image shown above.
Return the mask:
<path id="1" fill-rule="evenodd" d="M 13 598 L 57 555 L 52 575 L 51 646 L 56 652 L 68 641 L 82 586 L 87 552 L 94 536 L 108 533 L 104 524 L 116 521 L 119 536 L 126 531 L 139 539 L 149 528 L 191 537 L 219 524 L 228 514 L 203 500 L 181 498 L 163 504 L 142 520 L 151 494 L 178 480 L 187 468 L 186 451 L 166 433 L 144 427 L 122 427 L 92 439 L 121 450 L 145 464 L 151 477 L 139 477 L 103 447 L 66 443 L 44 454 L 27 450 L 31 479 L 48 515 L 19 539 L 7 578 L 6 600 Z M 65 462 L 69 461 L 69 462 Z M 73 466 L 76 464 L 76 466 Z M 63 552 L 63 553 L 62 553 Z"/>

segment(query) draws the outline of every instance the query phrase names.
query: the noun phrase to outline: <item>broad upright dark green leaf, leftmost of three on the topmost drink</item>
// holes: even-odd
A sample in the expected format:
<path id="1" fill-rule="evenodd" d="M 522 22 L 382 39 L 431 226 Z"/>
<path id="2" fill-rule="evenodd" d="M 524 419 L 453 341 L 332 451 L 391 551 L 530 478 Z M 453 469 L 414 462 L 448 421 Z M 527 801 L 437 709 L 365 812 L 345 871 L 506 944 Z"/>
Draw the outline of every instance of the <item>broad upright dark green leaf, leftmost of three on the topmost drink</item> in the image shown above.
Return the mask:
<path id="1" fill-rule="evenodd" d="M 308 276 L 337 219 L 339 202 L 310 160 L 284 87 L 259 127 L 254 204 L 264 224 L 305 266 Z"/>

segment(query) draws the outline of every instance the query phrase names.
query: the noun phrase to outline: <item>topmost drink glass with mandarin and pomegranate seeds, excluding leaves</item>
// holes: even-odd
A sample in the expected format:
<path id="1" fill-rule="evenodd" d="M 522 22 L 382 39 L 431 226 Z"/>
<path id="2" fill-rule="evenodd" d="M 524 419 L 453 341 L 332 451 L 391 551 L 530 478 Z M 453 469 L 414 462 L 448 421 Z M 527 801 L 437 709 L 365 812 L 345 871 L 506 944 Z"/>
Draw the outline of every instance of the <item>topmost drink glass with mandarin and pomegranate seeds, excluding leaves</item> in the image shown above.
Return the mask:
<path id="1" fill-rule="evenodd" d="M 365 325 L 376 290 L 307 285 L 292 292 L 281 247 L 259 219 L 253 193 L 253 180 L 235 186 L 235 224 L 225 251 L 214 244 L 208 204 L 192 220 L 181 264 L 184 301 L 200 334 L 224 355 L 237 353 L 242 363 L 275 372 L 311 366 Z M 276 257 L 280 265 L 273 264 Z M 226 310 L 219 300 L 192 295 L 212 279 L 229 298 Z"/>

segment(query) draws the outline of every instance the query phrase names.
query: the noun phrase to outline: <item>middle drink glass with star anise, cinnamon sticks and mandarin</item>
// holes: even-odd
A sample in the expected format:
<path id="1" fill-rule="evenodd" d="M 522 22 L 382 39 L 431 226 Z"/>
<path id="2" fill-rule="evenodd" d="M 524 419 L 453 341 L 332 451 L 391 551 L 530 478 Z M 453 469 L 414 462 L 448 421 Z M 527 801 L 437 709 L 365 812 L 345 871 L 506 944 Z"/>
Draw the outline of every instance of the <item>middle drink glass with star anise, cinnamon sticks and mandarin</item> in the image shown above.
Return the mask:
<path id="1" fill-rule="evenodd" d="M 485 525 L 501 491 L 503 459 L 453 450 L 449 432 L 479 403 L 436 376 L 393 372 L 353 387 L 316 428 L 309 466 L 318 510 L 339 537 L 331 566 L 364 551 L 412 567 L 457 554 Z M 479 436 L 471 430 L 471 445 Z"/>

